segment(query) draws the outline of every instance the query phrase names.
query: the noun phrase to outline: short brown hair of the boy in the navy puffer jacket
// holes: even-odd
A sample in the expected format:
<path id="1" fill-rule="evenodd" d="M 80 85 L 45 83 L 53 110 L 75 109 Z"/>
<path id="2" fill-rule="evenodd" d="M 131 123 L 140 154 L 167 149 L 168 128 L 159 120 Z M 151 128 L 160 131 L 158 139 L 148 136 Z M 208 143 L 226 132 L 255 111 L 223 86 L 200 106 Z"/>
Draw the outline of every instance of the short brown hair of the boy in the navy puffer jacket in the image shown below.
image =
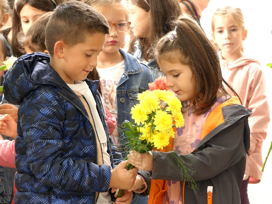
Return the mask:
<path id="1" fill-rule="evenodd" d="M 109 34 L 105 17 L 91 6 L 79 1 L 60 4 L 53 11 L 45 28 L 45 46 L 52 56 L 55 43 L 64 41 L 70 47 L 83 43 L 87 34 Z"/>

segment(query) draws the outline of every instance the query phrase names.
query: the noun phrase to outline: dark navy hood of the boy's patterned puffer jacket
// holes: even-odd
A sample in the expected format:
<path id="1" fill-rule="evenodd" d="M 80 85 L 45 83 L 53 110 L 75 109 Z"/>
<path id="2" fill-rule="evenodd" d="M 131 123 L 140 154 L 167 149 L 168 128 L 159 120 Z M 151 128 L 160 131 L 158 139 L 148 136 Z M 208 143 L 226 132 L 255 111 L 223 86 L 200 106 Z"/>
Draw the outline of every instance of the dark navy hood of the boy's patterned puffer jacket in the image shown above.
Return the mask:
<path id="1" fill-rule="evenodd" d="M 91 90 L 94 93 L 97 83 L 92 81 L 92 84 L 94 86 L 91 86 Z M 12 68 L 7 71 L 3 92 L 8 102 L 19 105 L 26 95 L 44 85 L 60 88 L 62 92 L 66 92 L 65 94 L 74 95 L 74 92 L 50 65 L 48 54 L 28 53 L 19 57 Z"/>

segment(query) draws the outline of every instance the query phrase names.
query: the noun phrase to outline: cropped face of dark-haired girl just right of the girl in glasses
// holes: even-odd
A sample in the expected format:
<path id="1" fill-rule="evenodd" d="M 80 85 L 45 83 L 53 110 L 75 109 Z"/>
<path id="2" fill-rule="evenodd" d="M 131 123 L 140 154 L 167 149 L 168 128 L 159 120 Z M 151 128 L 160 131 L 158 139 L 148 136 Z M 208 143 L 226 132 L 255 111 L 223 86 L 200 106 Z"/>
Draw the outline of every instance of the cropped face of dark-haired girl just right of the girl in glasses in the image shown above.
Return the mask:
<path id="1" fill-rule="evenodd" d="M 142 8 L 129 4 L 131 30 L 135 37 L 145 38 L 147 37 L 150 25 L 150 11 L 146 12 Z"/>

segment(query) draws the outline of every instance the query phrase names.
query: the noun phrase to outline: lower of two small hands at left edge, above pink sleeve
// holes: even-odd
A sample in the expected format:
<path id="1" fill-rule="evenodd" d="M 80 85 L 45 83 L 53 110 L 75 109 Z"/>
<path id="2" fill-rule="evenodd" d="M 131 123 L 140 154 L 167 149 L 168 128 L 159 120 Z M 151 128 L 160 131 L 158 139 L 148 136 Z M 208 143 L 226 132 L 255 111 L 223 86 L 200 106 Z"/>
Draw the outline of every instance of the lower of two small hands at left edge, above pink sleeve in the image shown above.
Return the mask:
<path id="1" fill-rule="evenodd" d="M 14 139 L 17 136 L 17 124 L 8 114 L 0 116 L 0 134 Z"/>

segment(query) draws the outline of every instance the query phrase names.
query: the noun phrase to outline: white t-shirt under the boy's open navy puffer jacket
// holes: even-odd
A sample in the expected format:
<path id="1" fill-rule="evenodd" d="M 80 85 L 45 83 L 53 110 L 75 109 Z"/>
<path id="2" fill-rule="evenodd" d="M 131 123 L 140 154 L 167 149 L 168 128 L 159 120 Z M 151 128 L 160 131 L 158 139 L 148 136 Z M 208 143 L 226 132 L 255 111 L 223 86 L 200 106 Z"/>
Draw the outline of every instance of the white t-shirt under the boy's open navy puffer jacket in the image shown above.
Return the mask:
<path id="1" fill-rule="evenodd" d="M 87 100 L 89 106 L 90 106 L 90 111 L 92 114 L 92 117 L 94 119 L 94 124 L 96 126 L 96 131 L 97 131 L 97 136 L 100 140 L 101 148 L 102 148 L 102 154 L 103 154 L 103 164 L 107 164 L 111 167 L 111 162 L 110 162 L 110 156 L 107 152 L 108 146 L 107 146 L 107 136 L 104 131 L 102 122 L 100 120 L 99 114 L 96 110 L 96 102 L 91 94 L 91 90 L 89 89 L 89 86 L 87 85 L 86 82 L 80 82 L 80 81 L 75 81 L 75 84 L 67 84 L 72 90 L 78 91 L 81 93 Z M 112 167 L 111 167 L 112 169 Z M 111 200 L 111 196 L 108 192 L 105 193 L 99 193 L 97 204 L 111 204 L 113 201 Z"/>

